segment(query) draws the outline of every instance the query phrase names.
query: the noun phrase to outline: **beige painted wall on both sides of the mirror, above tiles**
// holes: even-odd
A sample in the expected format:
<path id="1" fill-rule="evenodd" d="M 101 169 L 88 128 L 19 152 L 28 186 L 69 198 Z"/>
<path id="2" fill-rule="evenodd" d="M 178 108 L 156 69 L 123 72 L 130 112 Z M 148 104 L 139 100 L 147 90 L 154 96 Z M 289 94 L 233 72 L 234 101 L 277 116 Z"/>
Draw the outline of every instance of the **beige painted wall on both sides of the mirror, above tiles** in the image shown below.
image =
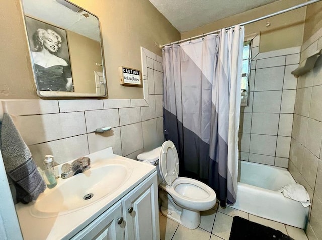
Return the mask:
<path id="1" fill-rule="evenodd" d="M 73 2 L 100 19 L 109 98 L 143 98 L 142 88 L 119 84 L 118 67 L 141 69 L 140 46 L 160 55 L 179 32 L 148 0 Z M 3 1 L 0 21 L 0 99 L 38 99 L 19 0 Z"/>

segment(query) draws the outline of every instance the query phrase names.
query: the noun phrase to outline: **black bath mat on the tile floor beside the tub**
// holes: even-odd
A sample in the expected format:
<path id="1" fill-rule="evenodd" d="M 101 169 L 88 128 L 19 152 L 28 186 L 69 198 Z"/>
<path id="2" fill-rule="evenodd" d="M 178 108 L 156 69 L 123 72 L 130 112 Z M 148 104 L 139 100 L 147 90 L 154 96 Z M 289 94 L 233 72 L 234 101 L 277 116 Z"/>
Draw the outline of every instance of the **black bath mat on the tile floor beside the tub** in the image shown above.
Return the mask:
<path id="1" fill-rule="evenodd" d="M 293 240 L 281 231 L 235 216 L 229 240 Z"/>

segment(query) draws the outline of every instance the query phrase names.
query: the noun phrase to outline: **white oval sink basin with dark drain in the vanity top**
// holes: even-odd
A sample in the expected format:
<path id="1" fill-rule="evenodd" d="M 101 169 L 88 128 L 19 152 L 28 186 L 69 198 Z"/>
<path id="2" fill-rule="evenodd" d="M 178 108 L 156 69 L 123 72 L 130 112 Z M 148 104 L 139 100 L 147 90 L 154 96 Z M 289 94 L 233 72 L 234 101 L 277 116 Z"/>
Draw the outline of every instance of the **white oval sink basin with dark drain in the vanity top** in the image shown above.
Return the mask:
<path id="1" fill-rule="evenodd" d="M 96 164 L 68 179 L 59 178 L 56 187 L 40 194 L 31 207 L 31 214 L 47 218 L 86 207 L 116 191 L 131 173 L 130 163 L 118 159 Z"/>

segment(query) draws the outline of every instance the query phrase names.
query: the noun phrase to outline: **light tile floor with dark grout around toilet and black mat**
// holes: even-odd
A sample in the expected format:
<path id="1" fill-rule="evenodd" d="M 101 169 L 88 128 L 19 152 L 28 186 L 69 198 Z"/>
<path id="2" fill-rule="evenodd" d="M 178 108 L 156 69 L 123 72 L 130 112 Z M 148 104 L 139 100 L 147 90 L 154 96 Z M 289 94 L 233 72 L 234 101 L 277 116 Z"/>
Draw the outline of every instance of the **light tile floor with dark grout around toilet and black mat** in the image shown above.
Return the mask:
<path id="1" fill-rule="evenodd" d="M 254 216 L 231 207 L 218 208 L 218 204 L 213 209 L 200 213 L 200 226 L 194 230 L 179 225 L 175 221 L 164 217 L 161 213 L 159 215 L 161 240 L 228 240 L 234 216 L 240 216 L 280 230 L 295 240 L 307 240 L 302 229 Z"/>

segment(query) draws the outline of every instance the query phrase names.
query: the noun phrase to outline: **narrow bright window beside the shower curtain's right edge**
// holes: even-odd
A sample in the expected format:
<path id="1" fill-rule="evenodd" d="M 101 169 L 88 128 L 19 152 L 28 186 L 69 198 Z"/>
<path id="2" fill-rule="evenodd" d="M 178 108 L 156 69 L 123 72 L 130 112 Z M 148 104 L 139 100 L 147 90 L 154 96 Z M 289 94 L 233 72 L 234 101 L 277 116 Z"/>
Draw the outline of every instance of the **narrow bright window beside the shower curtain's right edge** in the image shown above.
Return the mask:
<path id="1" fill-rule="evenodd" d="M 241 71 L 241 106 L 248 105 L 248 82 L 251 65 L 251 43 L 252 40 L 245 41 L 243 47 L 243 70 Z"/>

